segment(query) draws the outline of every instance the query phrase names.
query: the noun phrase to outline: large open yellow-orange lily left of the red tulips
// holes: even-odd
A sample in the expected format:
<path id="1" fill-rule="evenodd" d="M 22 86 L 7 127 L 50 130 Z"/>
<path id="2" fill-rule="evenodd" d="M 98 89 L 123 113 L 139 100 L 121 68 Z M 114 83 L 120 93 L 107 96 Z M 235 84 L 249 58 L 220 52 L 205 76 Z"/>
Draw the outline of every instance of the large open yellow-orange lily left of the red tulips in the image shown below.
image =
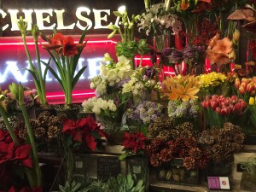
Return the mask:
<path id="1" fill-rule="evenodd" d="M 177 75 L 166 78 L 163 84 L 168 92 L 165 93 L 165 96 L 168 96 L 169 100 L 180 100 L 183 102 L 198 98 L 195 95 L 199 92 L 201 86 L 199 80 L 192 75 Z"/>

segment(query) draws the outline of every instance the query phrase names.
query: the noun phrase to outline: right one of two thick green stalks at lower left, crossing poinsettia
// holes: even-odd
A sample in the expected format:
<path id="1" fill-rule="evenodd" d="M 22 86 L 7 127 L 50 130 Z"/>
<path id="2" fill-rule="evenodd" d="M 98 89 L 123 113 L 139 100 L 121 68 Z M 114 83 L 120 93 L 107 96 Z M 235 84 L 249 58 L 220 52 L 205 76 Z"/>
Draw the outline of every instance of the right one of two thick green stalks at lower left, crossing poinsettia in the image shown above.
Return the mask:
<path id="1" fill-rule="evenodd" d="M 21 109 L 22 115 L 23 115 L 25 123 L 26 123 L 27 134 L 28 134 L 31 146 L 32 146 L 33 166 L 36 171 L 36 179 L 37 179 L 36 186 L 41 186 L 42 177 L 41 177 L 41 172 L 40 172 L 40 167 L 39 167 L 38 152 L 37 152 L 37 148 L 36 148 L 35 137 L 32 132 L 32 127 L 29 122 L 29 117 L 26 112 L 25 104 L 19 102 L 19 105 L 20 105 L 20 109 Z"/>

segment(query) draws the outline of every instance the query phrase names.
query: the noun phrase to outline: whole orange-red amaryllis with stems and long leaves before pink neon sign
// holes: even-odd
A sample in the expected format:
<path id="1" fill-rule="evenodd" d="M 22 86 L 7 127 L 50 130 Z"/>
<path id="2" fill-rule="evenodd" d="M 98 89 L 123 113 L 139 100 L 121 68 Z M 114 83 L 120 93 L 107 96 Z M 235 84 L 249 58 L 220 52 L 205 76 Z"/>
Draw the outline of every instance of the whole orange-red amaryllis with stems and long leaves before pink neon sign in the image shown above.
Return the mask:
<path id="1" fill-rule="evenodd" d="M 85 32 L 86 29 L 79 39 L 79 44 L 75 44 L 71 36 L 64 37 L 61 33 L 57 32 L 55 32 L 54 36 L 51 38 L 43 36 L 44 40 L 49 43 L 44 44 L 43 48 L 48 51 L 50 58 L 52 61 L 54 61 L 55 67 L 60 76 L 52 67 L 49 66 L 49 62 L 41 62 L 50 71 L 50 73 L 53 74 L 59 84 L 61 84 L 61 89 L 65 95 L 65 106 L 67 108 L 70 108 L 73 104 L 73 88 L 86 69 L 86 66 L 84 66 L 79 69 L 78 73 L 75 73 L 79 62 L 79 57 L 86 44 L 84 43 Z"/>

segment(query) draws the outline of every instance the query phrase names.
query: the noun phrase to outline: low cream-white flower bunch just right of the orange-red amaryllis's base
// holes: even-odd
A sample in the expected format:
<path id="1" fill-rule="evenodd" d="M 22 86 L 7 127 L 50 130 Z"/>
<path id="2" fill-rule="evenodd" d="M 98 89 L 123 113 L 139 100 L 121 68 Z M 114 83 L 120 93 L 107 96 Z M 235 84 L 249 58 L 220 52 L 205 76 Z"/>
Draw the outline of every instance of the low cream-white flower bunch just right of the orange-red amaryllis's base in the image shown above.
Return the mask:
<path id="1" fill-rule="evenodd" d="M 114 104 L 113 100 L 104 100 L 101 97 L 92 97 L 88 100 L 84 100 L 82 103 L 83 111 L 85 113 L 96 113 L 96 115 L 101 116 L 102 113 L 115 112 L 117 107 Z"/>

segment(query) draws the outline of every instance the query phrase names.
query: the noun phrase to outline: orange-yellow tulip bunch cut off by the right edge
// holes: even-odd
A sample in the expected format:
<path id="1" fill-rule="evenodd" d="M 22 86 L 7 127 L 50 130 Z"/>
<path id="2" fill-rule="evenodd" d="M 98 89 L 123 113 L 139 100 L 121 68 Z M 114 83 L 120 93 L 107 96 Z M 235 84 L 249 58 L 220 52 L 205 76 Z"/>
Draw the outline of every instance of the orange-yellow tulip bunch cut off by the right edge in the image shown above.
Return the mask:
<path id="1" fill-rule="evenodd" d="M 235 87 L 238 95 L 243 98 L 246 102 L 249 102 L 250 96 L 255 96 L 256 93 L 256 77 L 247 79 L 242 78 L 235 79 Z"/>

